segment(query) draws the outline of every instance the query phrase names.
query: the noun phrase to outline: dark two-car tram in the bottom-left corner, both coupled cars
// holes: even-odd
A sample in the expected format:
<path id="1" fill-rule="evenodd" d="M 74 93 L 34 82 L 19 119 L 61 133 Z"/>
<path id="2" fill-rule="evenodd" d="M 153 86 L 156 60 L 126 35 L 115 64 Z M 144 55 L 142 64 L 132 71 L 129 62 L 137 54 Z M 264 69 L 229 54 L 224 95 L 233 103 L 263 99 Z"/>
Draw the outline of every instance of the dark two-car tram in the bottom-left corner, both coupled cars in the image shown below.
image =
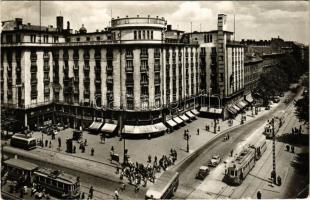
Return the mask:
<path id="1" fill-rule="evenodd" d="M 1 179 L 5 177 L 6 181 L 16 182 L 18 188 L 33 186 L 35 183 L 38 192 L 45 190 L 54 197 L 76 199 L 80 196 L 79 177 L 60 170 L 42 168 L 33 163 L 12 158 L 4 162 L 2 174 Z"/>

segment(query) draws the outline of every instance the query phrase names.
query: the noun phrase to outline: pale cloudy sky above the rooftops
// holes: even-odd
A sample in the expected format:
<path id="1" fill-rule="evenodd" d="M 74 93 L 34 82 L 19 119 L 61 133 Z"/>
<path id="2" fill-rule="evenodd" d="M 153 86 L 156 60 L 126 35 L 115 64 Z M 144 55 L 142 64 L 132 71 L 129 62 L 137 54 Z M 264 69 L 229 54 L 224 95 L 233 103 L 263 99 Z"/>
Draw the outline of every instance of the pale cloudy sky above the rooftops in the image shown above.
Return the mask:
<path id="1" fill-rule="evenodd" d="M 103 30 L 112 17 L 164 17 L 173 29 L 208 31 L 216 29 L 217 14 L 228 17 L 236 40 L 268 40 L 278 37 L 309 44 L 309 1 L 42 1 L 42 25 L 56 26 L 56 16 L 70 21 L 78 30 Z M 111 12 L 112 11 L 112 12 Z M 38 1 L 1 1 L 1 21 L 23 18 L 39 25 Z"/>

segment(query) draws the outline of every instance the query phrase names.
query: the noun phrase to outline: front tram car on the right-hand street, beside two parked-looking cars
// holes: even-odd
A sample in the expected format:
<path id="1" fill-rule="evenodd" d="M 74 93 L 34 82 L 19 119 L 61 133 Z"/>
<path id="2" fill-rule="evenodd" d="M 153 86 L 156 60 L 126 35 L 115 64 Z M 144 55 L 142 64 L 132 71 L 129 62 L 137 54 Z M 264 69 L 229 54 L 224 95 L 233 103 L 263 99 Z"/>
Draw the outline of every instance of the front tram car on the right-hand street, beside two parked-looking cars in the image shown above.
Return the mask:
<path id="1" fill-rule="evenodd" d="M 245 148 L 228 164 L 224 179 L 229 184 L 240 185 L 254 166 L 255 150 Z"/>

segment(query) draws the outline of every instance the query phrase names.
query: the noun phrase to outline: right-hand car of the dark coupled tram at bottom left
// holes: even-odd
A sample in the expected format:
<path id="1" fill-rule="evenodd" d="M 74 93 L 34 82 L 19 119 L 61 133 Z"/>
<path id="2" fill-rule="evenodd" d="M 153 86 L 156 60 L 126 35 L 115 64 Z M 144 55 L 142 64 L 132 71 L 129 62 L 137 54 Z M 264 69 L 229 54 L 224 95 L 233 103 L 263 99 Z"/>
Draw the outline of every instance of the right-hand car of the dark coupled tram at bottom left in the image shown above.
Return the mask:
<path id="1" fill-rule="evenodd" d="M 61 199 L 74 199 L 80 195 L 79 177 L 59 170 L 39 168 L 34 172 L 34 182 Z"/>

